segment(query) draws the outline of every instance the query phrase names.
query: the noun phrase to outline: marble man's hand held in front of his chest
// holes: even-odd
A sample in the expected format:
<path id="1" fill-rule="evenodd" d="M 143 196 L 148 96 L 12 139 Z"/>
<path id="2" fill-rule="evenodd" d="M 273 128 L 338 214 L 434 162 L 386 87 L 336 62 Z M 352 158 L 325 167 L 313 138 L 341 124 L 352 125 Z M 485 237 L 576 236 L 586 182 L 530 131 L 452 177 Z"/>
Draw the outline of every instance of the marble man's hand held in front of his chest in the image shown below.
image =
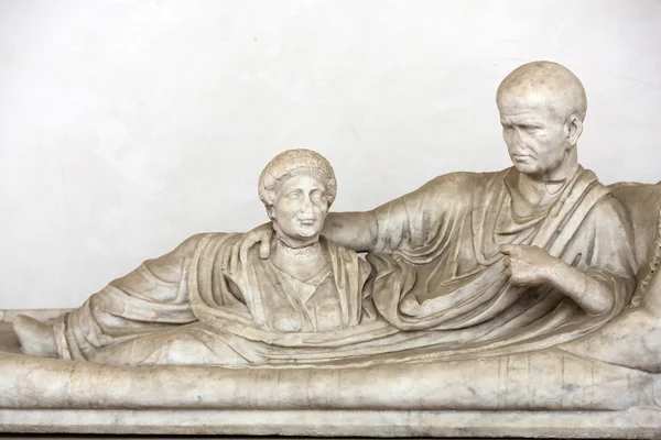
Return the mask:
<path id="1" fill-rule="evenodd" d="M 500 253 L 507 255 L 502 264 L 514 286 L 535 287 L 551 283 L 553 272 L 562 263 L 541 248 L 525 244 L 502 244 Z"/>

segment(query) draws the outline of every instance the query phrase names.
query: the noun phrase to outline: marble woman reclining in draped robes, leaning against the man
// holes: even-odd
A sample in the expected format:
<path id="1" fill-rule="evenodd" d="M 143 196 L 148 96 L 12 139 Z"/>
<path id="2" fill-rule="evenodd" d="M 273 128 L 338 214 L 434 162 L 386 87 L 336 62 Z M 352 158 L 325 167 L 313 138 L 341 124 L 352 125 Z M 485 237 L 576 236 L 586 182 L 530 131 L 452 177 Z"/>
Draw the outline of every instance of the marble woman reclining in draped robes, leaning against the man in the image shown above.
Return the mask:
<path id="1" fill-rule="evenodd" d="M 22 350 L 111 364 L 236 365 L 264 362 L 260 351 L 273 343 L 304 344 L 317 332 L 334 341 L 333 330 L 373 321 L 362 297 L 369 264 L 319 238 L 336 191 L 318 153 L 279 154 L 259 178 L 275 230 L 269 260 L 251 254 L 230 275 L 223 267 L 242 234 L 194 235 L 52 323 L 17 317 Z"/>

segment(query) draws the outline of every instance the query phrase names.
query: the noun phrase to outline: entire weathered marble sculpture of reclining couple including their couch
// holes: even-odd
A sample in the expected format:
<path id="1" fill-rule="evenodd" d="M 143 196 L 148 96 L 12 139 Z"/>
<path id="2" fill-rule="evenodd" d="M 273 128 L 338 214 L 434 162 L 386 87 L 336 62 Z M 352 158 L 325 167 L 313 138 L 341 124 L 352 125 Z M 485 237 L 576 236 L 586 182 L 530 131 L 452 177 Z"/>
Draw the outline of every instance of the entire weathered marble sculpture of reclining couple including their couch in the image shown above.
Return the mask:
<path id="1" fill-rule="evenodd" d="M 661 185 L 578 164 L 566 68 L 522 66 L 497 102 L 512 168 L 328 215 L 330 165 L 285 152 L 260 177 L 270 223 L 54 320 L 4 314 L 62 359 L 0 339 L 0 430 L 661 436 Z"/>

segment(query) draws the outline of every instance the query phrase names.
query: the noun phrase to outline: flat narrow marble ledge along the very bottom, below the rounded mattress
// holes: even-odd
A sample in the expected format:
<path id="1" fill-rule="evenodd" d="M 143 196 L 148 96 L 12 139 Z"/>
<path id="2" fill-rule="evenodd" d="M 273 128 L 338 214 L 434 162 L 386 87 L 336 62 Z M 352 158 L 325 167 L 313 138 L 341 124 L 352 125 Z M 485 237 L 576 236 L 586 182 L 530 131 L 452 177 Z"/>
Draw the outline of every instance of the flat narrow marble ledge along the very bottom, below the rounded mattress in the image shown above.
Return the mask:
<path id="1" fill-rule="evenodd" d="M 658 439 L 661 411 L 0 409 L 0 432 Z"/>

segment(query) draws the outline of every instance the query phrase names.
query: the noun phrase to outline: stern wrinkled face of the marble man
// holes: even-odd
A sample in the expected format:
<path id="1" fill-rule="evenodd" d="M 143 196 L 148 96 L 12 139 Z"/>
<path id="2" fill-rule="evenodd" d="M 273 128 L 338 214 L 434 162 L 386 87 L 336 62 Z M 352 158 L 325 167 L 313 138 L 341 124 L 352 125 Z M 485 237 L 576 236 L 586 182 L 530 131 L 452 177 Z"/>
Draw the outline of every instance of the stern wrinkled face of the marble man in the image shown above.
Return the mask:
<path id="1" fill-rule="evenodd" d="M 552 176 L 567 156 L 566 121 L 548 99 L 505 90 L 498 97 L 502 138 L 520 173 Z"/>

